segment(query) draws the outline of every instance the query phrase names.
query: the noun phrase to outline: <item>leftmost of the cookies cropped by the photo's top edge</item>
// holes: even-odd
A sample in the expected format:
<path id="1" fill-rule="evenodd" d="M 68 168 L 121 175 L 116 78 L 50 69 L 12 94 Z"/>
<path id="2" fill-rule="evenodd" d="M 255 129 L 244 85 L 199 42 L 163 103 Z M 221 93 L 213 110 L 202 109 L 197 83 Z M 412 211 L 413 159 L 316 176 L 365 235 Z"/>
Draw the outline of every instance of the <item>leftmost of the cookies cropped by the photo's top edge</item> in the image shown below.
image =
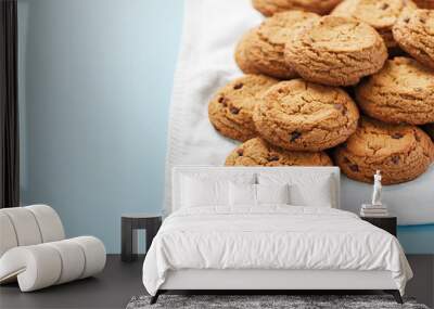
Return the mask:
<path id="1" fill-rule="evenodd" d="M 253 7 L 265 16 L 278 12 L 299 10 L 320 15 L 328 14 L 342 0 L 252 0 Z"/>

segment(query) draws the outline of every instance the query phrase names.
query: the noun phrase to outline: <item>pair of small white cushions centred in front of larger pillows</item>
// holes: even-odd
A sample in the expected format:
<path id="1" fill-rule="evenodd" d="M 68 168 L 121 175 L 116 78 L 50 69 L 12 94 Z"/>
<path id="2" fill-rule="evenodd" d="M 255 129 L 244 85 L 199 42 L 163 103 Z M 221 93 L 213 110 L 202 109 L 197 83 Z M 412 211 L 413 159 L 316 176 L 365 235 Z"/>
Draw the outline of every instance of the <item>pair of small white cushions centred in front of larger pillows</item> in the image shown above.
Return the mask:
<path id="1" fill-rule="evenodd" d="M 230 206 L 290 204 L 289 184 L 229 183 Z"/>

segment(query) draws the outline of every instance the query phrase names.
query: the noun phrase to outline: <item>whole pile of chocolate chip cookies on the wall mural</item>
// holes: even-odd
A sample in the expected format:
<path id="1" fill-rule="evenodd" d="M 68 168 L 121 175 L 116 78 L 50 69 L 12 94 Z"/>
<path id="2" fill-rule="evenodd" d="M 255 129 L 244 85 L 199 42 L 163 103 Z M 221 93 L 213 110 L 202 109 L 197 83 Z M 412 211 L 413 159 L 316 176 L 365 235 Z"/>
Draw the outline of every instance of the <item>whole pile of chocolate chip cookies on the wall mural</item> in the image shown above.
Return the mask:
<path id="1" fill-rule="evenodd" d="M 363 182 L 381 170 L 385 184 L 429 168 L 434 143 L 420 126 L 434 126 L 434 11 L 410 0 L 253 7 L 266 18 L 237 44 L 245 75 L 208 105 L 214 128 L 243 142 L 227 166 L 334 163 Z"/>

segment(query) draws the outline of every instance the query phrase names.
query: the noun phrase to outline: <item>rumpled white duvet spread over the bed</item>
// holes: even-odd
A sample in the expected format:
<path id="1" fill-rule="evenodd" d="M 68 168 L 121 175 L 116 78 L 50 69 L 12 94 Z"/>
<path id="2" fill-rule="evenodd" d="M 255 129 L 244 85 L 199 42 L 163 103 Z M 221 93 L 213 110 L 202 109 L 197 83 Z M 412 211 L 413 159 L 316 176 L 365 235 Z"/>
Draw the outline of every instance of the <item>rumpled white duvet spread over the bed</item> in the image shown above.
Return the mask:
<path id="1" fill-rule="evenodd" d="M 403 295 L 412 276 L 398 241 L 356 215 L 280 205 L 174 213 L 145 257 L 143 284 L 155 295 L 179 269 L 388 270 Z"/>

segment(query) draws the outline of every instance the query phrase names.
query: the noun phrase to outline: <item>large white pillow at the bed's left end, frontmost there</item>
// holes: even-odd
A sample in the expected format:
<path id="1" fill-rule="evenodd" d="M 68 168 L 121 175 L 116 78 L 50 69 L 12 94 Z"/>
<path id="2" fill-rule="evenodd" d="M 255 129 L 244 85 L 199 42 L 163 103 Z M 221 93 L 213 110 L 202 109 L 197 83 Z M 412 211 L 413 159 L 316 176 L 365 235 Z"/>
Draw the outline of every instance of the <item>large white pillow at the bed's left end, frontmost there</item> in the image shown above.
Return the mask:
<path id="1" fill-rule="evenodd" d="M 183 177 L 181 207 L 228 205 L 229 181 Z"/>

